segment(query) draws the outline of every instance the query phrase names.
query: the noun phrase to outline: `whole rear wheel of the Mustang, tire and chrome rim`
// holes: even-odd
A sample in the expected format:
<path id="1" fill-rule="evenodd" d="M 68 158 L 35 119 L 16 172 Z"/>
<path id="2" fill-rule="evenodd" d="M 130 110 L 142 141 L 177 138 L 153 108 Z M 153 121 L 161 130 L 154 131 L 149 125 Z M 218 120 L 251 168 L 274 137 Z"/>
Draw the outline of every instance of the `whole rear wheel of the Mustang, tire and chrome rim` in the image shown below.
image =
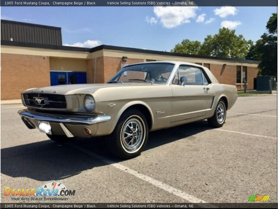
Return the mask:
<path id="1" fill-rule="evenodd" d="M 214 115 L 208 118 L 209 125 L 215 128 L 222 127 L 226 120 L 226 104 L 223 99 L 217 104 Z"/>

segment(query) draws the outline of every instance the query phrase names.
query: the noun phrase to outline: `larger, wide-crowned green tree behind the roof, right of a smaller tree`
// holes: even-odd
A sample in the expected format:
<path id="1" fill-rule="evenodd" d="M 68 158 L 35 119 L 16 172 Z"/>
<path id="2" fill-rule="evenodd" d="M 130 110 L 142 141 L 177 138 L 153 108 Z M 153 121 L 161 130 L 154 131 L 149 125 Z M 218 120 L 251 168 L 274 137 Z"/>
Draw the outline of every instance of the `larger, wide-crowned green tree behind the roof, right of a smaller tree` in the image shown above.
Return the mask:
<path id="1" fill-rule="evenodd" d="M 199 54 L 244 59 L 252 45 L 251 40 L 247 41 L 243 35 L 236 35 L 235 30 L 220 28 L 217 34 L 205 38 Z"/>

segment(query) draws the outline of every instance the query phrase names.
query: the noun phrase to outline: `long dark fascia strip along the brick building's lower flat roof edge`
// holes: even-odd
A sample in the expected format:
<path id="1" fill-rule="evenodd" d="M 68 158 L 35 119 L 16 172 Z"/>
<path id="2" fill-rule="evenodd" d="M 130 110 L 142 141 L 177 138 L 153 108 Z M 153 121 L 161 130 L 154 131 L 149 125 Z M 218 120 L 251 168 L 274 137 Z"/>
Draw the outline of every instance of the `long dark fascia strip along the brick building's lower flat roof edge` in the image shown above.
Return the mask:
<path id="1" fill-rule="evenodd" d="M 204 55 L 188 55 L 188 54 L 181 54 L 181 53 L 154 51 L 154 50 L 147 50 L 147 49 L 110 46 L 110 45 L 100 45 L 94 48 L 83 48 L 83 47 L 74 47 L 74 46 L 55 46 L 55 45 L 47 45 L 47 44 L 35 44 L 35 43 L 24 43 L 24 42 L 3 41 L 3 40 L 1 41 L 1 45 L 25 46 L 25 47 L 34 47 L 34 48 L 47 48 L 47 49 L 83 51 L 83 52 L 96 52 L 103 49 L 107 49 L 107 50 L 126 51 L 126 52 L 145 53 L 145 54 L 168 55 L 168 56 L 176 56 L 176 57 L 192 57 L 192 58 L 200 58 L 200 59 L 213 59 L 213 60 L 243 62 L 249 64 L 259 64 L 259 61 L 257 60 L 243 60 L 243 59 L 236 59 L 236 58 L 212 57 L 212 56 L 204 56 Z"/>

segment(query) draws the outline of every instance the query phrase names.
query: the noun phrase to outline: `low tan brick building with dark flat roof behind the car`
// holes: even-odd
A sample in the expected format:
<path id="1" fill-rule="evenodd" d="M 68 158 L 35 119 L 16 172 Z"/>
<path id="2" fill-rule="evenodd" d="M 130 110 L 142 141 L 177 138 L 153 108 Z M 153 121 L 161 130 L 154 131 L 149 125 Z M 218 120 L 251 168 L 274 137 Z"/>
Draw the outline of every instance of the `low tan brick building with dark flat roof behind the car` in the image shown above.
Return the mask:
<path id="1" fill-rule="evenodd" d="M 94 48 L 62 46 L 61 28 L 14 21 L 4 23 L 19 27 L 3 27 L 1 20 L 1 100 L 19 99 L 23 90 L 34 87 L 104 83 L 123 66 L 137 62 L 175 60 L 200 64 L 208 67 L 220 83 L 235 85 L 237 89 L 244 88 L 244 79 L 248 89 L 254 89 L 253 80 L 258 73 L 258 62 L 253 60 L 108 45 Z M 25 33 L 32 37 L 20 38 Z"/>

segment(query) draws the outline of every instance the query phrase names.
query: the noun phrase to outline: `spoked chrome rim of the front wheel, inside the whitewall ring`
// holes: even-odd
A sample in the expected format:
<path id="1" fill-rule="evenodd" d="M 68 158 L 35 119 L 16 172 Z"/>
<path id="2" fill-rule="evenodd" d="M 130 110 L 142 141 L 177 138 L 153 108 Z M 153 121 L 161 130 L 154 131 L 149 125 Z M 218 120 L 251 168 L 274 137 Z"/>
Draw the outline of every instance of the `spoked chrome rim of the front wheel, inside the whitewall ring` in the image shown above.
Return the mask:
<path id="1" fill-rule="evenodd" d="M 127 120 L 122 129 L 121 141 L 123 147 L 129 151 L 135 151 L 143 140 L 143 126 L 140 120 L 131 118 Z"/>

